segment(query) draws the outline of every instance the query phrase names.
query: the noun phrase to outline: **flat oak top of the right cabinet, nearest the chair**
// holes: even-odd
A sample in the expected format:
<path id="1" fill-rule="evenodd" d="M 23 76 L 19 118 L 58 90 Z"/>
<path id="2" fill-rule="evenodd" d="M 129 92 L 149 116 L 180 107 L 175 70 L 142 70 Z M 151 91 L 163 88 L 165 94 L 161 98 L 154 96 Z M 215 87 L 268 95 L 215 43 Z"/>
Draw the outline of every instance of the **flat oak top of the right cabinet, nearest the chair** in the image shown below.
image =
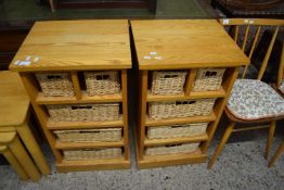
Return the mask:
<path id="1" fill-rule="evenodd" d="M 238 66 L 249 60 L 215 20 L 131 22 L 140 69 Z"/>

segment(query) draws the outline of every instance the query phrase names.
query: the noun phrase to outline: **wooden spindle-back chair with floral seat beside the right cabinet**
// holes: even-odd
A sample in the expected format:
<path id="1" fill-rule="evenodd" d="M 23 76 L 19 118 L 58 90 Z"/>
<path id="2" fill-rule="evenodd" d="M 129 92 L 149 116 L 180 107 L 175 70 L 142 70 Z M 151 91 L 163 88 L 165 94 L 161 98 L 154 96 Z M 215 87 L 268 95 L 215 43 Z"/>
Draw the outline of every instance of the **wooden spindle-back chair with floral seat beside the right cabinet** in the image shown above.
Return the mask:
<path id="1" fill-rule="evenodd" d="M 232 35 L 233 39 L 247 54 L 250 63 L 256 45 L 259 41 L 259 36 L 263 34 L 263 29 L 269 28 L 273 30 L 273 36 L 269 41 L 267 51 L 264 52 L 264 58 L 258 72 L 257 79 L 244 78 L 248 71 L 248 66 L 246 66 L 243 71 L 243 77 L 241 79 L 236 79 L 234 84 L 234 87 L 231 91 L 231 97 L 229 98 L 228 104 L 224 109 L 230 124 L 227 126 L 221 141 L 218 144 L 211 160 L 209 161 L 208 168 L 212 167 L 232 132 L 254 130 L 264 127 L 269 127 L 269 137 L 267 140 L 264 156 L 268 159 L 275 130 L 275 123 L 277 119 L 284 118 L 283 97 L 279 94 L 271 86 L 261 81 L 276 35 L 280 28 L 284 26 L 284 20 L 230 18 L 220 20 L 220 23 L 225 28 L 230 27 L 229 31 L 234 31 Z M 238 35 L 240 31 L 243 31 L 244 35 Z M 253 35 L 249 35 L 251 31 Z M 270 125 L 259 126 L 259 123 L 270 123 Z M 241 125 L 236 127 L 236 124 Z M 247 127 L 244 124 L 251 124 L 255 126 Z"/>

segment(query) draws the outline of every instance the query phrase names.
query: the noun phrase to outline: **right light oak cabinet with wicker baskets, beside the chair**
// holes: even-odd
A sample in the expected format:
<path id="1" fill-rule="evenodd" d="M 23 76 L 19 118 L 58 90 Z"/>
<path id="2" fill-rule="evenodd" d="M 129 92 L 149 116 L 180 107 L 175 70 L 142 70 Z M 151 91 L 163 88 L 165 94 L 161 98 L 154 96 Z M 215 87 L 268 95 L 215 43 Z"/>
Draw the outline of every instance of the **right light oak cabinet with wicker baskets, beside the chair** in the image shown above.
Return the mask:
<path id="1" fill-rule="evenodd" d="M 248 59 L 215 20 L 131 21 L 139 168 L 203 163 Z"/>

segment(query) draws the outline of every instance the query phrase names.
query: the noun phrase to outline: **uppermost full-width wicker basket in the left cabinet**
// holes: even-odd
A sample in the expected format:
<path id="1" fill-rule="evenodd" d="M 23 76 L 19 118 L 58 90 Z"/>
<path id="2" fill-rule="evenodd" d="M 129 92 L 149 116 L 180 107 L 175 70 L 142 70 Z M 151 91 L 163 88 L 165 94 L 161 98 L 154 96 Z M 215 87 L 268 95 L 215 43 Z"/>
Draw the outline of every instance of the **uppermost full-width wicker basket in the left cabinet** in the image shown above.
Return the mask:
<path id="1" fill-rule="evenodd" d="M 47 105 L 52 122 L 118 121 L 119 103 Z"/>

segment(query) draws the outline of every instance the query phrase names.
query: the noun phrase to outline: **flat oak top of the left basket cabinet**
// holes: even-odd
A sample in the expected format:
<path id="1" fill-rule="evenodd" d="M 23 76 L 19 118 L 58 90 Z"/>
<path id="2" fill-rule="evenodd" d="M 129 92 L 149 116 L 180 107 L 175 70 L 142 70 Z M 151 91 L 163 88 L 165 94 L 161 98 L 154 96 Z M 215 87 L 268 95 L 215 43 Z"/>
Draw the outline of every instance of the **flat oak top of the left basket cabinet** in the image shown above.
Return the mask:
<path id="1" fill-rule="evenodd" d="M 18 72 L 130 67 L 127 20 L 37 22 L 10 64 Z"/>

